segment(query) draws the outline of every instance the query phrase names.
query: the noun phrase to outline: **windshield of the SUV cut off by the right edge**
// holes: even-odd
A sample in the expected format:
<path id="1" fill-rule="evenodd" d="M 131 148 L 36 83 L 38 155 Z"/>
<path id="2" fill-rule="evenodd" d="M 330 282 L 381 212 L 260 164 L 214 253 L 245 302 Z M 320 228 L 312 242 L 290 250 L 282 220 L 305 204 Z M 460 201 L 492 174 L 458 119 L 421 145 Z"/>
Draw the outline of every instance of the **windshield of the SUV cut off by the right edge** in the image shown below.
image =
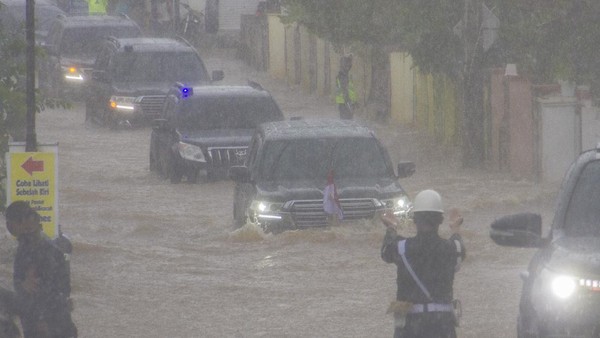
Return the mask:
<path id="1" fill-rule="evenodd" d="M 565 234 L 600 236 L 600 161 L 587 164 L 577 180 L 566 213 Z"/>

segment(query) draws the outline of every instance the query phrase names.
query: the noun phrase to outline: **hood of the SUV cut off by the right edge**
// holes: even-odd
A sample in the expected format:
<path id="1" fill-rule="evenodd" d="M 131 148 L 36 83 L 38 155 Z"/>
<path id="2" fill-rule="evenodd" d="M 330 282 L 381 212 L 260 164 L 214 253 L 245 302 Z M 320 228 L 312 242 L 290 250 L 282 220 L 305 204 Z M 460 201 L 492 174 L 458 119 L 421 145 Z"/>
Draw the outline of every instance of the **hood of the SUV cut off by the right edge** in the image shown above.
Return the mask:
<path id="1" fill-rule="evenodd" d="M 552 242 L 549 266 L 575 276 L 600 275 L 600 238 L 561 237 Z"/>

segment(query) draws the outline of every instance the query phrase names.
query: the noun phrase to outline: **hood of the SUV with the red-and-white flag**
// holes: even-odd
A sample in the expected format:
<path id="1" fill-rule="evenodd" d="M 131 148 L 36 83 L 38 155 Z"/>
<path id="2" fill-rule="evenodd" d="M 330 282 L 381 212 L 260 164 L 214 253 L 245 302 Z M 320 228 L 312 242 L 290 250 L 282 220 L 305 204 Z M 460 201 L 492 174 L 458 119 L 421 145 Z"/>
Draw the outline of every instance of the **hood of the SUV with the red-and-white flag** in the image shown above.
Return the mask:
<path id="1" fill-rule="evenodd" d="M 290 180 L 260 182 L 256 185 L 257 196 L 273 202 L 289 200 L 314 200 L 323 198 L 327 181 Z M 348 178 L 335 182 L 340 199 L 344 198 L 393 198 L 406 193 L 395 178 Z"/>

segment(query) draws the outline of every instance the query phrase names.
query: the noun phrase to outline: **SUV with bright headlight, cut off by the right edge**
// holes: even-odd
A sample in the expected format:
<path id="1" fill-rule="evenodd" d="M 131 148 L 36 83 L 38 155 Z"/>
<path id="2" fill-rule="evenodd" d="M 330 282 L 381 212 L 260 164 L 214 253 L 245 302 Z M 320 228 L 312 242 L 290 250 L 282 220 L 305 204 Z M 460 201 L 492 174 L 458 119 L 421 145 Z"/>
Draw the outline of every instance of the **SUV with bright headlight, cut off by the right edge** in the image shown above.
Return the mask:
<path id="1" fill-rule="evenodd" d="M 600 336 L 600 146 L 567 171 L 547 237 L 536 213 L 504 216 L 490 236 L 539 248 L 521 274 L 518 337 Z"/>

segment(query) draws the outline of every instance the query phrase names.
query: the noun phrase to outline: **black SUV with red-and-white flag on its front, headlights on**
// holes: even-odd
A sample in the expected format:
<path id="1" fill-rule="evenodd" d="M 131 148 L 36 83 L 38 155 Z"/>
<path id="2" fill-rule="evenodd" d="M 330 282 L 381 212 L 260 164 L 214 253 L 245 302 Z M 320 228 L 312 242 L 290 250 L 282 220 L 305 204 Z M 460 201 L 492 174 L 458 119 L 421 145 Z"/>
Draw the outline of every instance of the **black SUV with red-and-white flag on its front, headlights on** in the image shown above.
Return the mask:
<path id="1" fill-rule="evenodd" d="M 233 166 L 233 215 L 267 232 L 329 224 L 323 206 L 328 173 L 343 211 L 343 222 L 374 219 L 392 210 L 404 217 L 411 203 L 398 178 L 414 173 L 412 162 L 394 173 L 388 152 L 367 127 L 355 121 L 307 119 L 262 124 L 243 166 Z"/>

